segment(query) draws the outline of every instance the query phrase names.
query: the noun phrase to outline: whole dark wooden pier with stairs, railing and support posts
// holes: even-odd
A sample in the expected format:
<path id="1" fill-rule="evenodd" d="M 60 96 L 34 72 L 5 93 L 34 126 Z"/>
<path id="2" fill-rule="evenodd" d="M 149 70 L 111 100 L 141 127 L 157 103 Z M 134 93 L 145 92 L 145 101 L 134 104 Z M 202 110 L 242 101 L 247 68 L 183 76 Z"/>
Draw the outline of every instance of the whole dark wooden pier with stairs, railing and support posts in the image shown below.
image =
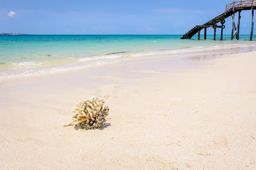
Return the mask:
<path id="1" fill-rule="evenodd" d="M 200 32 L 204 29 L 204 40 L 207 38 L 207 28 L 212 27 L 214 29 L 214 40 L 216 40 L 216 28 L 221 28 L 221 40 L 223 38 L 223 29 L 225 28 L 224 23 L 227 17 L 233 17 L 232 23 L 232 34 L 231 40 L 236 37 L 239 40 L 239 29 L 240 29 L 240 19 L 241 19 L 241 11 L 251 10 L 252 11 L 252 27 L 250 40 L 253 40 L 253 25 L 254 25 L 254 9 L 256 9 L 256 0 L 241 0 L 241 1 L 233 1 L 229 5 L 226 5 L 226 10 L 224 13 L 220 14 L 218 17 L 213 18 L 209 22 L 205 23 L 202 26 L 195 26 L 186 34 L 184 34 L 180 39 L 191 39 L 195 34 L 198 33 L 198 40 L 200 40 Z M 239 20 L 237 26 L 235 24 L 235 14 L 239 12 Z M 218 26 L 217 23 L 221 22 L 221 25 Z"/>

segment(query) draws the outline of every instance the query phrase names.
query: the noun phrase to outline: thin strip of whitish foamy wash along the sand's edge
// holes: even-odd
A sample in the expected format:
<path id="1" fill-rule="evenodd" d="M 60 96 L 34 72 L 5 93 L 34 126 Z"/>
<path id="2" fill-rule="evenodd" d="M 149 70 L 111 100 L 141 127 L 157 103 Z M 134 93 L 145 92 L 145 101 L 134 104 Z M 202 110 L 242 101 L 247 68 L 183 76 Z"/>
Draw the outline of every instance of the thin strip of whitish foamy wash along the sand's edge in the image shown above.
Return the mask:
<path id="1" fill-rule="evenodd" d="M 162 50 L 160 50 L 162 51 Z M 167 50 L 170 51 L 170 50 Z M 91 67 L 97 66 L 108 66 L 119 62 L 131 62 L 136 60 L 143 59 L 159 59 L 159 58 L 184 58 L 187 57 L 197 57 L 208 55 L 226 55 L 233 53 L 246 53 L 249 51 L 256 51 L 256 45 L 248 45 L 248 46 L 238 46 L 238 47 L 222 47 L 221 49 L 204 49 L 198 51 L 191 52 L 179 52 L 179 53 L 166 53 L 166 54 L 154 54 L 154 55 L 144 55 L 140 57 L 113 57 L 113 58 L 84 58 L 81 61 L 76 62 L 57 62 L 51 64 L 42 64 L 42 65 L 24 65 L 24 66 L 12 66 L 12 67 L 1 67 L 0 68 L 0 82 L 8 82 L 15 79 L 23 79 L 23 78 L 33 78 L 33 77 L 41 77 L 41 76 L 49 76 L 52 74 L 64 74 L 70 71 L 79 71 Z M 147 52 L 147 51 L 145 51 Z M 148 51 L 149 52 L 149 51 Z M 156 51 L 155 51 L 156 52 Z M 188 56 L 189 53 L 189 56 Z M 116 54 L 116 53 L 113 53 Z M 119 54 L 119 53 L 118 53 Z M 122 54 L 122 53 L 121 53 Z M 112 54 L 111 54 L 112 55 Z M 105 56 L 110 56 L 105 55 Z M 7 71 L 7 72 L 6 72 Z"/>

